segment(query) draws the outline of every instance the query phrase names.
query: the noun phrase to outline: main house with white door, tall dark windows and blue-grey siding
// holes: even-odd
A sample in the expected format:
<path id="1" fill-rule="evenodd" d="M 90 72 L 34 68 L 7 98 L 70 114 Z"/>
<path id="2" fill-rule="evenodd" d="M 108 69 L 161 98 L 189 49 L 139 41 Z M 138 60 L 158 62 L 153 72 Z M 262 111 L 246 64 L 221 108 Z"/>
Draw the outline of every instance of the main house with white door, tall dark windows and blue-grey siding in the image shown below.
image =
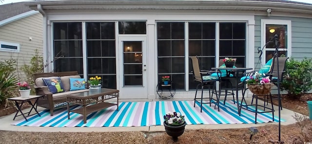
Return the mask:
<path id="1" fill-rule="evenodd" d="M 201 69 L 224 57 L 237 67 L 260 68 L 278 41 L 279 54 L 312 54 L 312 5 L 287 0 L 36 0 L 43 15 L 46 72 L 102 77 L 120 98 L 157 98 L 169 75 L 176 98 L 192 98 L 190 56 Z M 275 37 L 276 35 L 276 37 Z M 270 42 L 271 41 L 271 42 Z M 259 61 L 259 49 L 263 49 Z"/>

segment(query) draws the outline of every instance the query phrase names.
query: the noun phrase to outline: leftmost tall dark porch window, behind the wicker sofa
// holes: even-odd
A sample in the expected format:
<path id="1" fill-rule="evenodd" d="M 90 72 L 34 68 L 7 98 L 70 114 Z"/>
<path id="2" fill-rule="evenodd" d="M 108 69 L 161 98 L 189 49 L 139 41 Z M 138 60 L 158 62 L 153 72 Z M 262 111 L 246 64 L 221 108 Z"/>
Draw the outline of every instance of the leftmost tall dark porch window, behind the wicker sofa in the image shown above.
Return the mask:
<path id="1" fill-rule="evenodd" d="M 83 76 L 81 22 L 55 22 L 54 72 L 78 71 Z"/>

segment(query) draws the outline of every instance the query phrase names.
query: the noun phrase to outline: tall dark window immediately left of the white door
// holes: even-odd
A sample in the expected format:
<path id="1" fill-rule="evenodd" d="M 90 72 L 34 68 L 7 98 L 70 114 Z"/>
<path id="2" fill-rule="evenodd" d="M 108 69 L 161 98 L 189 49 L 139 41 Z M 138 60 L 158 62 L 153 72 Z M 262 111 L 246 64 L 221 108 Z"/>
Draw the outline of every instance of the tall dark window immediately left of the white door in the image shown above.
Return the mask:
<path id="1" fill-rule="evenodd" d="M 102 87 L 116 89 L 114 22 L 86 22 L 88 78 L 102 78 Z"/>

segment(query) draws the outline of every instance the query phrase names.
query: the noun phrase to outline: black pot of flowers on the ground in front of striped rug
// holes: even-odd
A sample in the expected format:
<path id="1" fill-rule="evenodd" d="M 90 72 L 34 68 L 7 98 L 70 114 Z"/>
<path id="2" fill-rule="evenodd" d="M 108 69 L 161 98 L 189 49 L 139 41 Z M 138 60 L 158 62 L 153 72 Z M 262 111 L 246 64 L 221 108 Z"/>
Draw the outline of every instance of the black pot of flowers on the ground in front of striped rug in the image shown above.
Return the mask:
<path id="1" fill-rule="evenodd" d="M 168 112 L 164 115 L 164 126 L 166 133 L 169 136 L 172 136 L 172 139 L 176 142 L 177 137 L 184 133 L 185 129 L 185 120 L 184 116 L 180 112 Z"/>

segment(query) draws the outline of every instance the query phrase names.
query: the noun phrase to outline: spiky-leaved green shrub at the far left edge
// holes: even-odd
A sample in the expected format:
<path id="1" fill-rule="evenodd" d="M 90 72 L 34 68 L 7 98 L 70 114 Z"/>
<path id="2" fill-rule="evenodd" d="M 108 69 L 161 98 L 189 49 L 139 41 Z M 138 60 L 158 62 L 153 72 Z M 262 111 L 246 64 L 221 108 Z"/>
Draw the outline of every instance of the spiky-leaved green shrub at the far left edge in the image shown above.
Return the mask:
<path id="1" fill-rule="evenodd" d="M 10 59 L 0 62 L 0 103 L 4 104 L 6 98 L 13 96 L 16 92 L 18 78 L 16 70 L 16 60 Z"/>

